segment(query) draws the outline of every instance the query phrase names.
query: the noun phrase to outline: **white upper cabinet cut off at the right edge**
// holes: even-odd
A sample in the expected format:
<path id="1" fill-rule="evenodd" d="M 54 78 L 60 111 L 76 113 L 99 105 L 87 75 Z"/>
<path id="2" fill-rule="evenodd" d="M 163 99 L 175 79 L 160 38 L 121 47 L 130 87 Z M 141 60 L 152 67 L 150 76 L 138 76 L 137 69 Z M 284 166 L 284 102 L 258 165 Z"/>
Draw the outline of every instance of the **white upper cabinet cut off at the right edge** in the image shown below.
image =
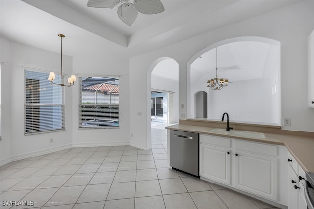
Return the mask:
<path id="1" fill-rule="evenodd" d="M 308 38 L 308 105 L 314 108 L 314 31 Z"/>

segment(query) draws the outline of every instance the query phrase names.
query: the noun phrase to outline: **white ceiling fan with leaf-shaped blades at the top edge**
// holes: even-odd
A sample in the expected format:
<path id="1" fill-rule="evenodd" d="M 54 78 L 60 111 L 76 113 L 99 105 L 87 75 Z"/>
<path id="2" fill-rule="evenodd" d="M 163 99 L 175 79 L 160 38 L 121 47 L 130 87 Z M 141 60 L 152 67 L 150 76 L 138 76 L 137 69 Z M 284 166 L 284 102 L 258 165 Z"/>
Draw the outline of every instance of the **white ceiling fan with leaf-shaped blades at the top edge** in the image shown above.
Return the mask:
<path id="1" fill-rule="evenodd" d="M 133 3 L 132 3 L 133 2 Z M 165 11 L 160 0 L 88 0 L 87 6 L 96 8 L 118 8 L 119 18 L 131 26 L 138 12 L 153 15 Z"/>

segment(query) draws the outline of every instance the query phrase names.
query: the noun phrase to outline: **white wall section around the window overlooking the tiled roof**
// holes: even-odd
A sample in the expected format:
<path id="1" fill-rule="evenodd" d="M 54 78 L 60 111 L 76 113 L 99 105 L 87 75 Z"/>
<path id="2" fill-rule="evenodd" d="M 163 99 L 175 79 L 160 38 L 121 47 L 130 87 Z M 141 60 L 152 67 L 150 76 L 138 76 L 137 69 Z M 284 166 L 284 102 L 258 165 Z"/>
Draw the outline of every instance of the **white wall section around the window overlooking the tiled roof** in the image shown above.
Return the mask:
<path id="1" fill-rule="evenodd" d="M 129 72 L 128 60 L 123 53 L 117 56 L 110 50 L 90 46 L 91 52 L 82 50 L 73 57 L 73 69 L 78 76 L 120 76 L 119 79 L 119 128 L 78 129 L 79 86 L 73 86 L 73 146 L 111 146 L 129 144 Z"/>

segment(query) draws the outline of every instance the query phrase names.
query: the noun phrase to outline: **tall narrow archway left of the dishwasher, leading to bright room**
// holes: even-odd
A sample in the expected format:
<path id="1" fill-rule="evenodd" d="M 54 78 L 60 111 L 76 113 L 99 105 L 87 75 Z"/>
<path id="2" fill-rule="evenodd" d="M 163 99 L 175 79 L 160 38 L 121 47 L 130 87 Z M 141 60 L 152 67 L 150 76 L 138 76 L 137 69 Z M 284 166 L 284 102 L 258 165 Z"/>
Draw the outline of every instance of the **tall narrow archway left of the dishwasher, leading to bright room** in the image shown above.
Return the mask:
<path id="1" fill-rule="evenodd" d="M 170 57 L 157 59 L 147 71 L 147 143 L 153 149 L 166 149 L 164 127 L 179 121 L 178 71 L 178 63 Z"/>

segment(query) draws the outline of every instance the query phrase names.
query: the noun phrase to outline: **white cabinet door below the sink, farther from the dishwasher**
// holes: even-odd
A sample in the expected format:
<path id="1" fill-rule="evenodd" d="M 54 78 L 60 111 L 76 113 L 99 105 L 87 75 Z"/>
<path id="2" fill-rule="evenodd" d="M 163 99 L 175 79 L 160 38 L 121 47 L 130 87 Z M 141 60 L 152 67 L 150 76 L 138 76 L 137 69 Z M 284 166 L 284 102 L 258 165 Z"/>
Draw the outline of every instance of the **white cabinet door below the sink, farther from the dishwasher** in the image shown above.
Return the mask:
<path id="1" fill-rule="evenodd" d="M 235 187 L 277 201 L 277 158 L 235 151 Z"/>

